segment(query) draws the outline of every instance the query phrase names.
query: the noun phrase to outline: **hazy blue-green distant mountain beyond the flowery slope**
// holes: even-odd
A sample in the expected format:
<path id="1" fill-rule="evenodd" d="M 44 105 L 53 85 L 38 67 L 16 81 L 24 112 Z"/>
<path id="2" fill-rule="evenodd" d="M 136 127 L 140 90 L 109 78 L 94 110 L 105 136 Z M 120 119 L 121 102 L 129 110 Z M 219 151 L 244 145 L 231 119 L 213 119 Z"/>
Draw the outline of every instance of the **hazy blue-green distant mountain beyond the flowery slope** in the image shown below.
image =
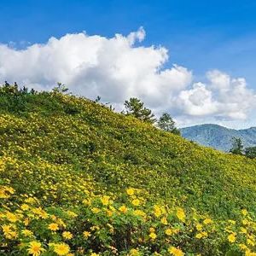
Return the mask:
<path id="1" fill-rule="evenodd" d="M 256 127 L 245 130 L 228 129 L 220 125 L 195 125 L 181 129 L 183 137 L 201 145 L 229 151 L 232 137 L 240 137 L 245 147 L 256 146 Z"/>

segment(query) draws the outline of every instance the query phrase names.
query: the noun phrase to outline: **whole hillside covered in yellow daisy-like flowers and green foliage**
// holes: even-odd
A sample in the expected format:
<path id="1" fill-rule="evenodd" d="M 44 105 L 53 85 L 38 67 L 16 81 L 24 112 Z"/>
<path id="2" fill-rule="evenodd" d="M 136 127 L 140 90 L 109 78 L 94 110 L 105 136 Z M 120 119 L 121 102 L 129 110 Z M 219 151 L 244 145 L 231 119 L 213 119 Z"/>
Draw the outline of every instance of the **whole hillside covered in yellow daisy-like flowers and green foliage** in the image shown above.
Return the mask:
<path id="1" fill-rule="evenodd" d="M 1 255 L 255 249 L 254 160 L 84 98 L 12 88 L 0 90 L 0 142 Z"/>

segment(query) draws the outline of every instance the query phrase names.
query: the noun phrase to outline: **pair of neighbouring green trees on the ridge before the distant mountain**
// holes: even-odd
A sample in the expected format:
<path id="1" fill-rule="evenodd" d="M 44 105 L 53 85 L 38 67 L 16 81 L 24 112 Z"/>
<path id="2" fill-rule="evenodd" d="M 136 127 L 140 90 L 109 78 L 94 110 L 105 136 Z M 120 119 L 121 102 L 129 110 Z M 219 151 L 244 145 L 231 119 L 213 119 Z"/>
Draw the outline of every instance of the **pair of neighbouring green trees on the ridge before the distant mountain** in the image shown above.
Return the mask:
<path id="1" fill-rule="evenodd" d="M 144 107 L 144 103 L 137 98 L 130 98 L 129 101 L 125 101 L 125 114 L 134 116 L 144 122 L 150 124 L 157 124 L 163 131 L 172 132 L 174 134 L 180 135 L 180 131 L 177 129 L 175 122 L 173 121 L 169 113 L 163 113 L 160 119 L 155 119 L 154 113 L 148 108 Z"/>

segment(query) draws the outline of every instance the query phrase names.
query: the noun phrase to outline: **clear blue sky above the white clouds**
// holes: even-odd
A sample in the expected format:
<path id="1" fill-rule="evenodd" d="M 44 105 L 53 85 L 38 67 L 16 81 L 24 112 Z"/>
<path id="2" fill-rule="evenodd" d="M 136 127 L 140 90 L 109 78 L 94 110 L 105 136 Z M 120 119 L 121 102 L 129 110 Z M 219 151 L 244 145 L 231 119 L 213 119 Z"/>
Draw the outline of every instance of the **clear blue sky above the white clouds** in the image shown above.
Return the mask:
<path id="1" fill-rule="evenodd" d="M 255 1 L 18 1 L 0 2 L 0 43 L 16 49 L 83 32 L 113 38 L 143 26 L 143 46 L 162 45 L 170 61 L 205 81 L 212 69 L 256 89 Z"/>

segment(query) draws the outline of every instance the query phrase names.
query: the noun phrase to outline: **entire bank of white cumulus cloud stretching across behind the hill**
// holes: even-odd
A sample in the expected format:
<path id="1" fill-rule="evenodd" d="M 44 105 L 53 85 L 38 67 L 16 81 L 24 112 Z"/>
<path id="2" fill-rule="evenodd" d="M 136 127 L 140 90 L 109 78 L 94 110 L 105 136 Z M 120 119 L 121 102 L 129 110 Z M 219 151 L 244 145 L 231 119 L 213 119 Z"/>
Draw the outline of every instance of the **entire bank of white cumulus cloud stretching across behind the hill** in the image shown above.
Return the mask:
<path id="1" fill-rule="evenodd" d="M 74 94 L 102 96 L 117 106 L 137 96 L 156 113 L 169 111 L 177 119 L 246 119 L 255 107 L 245 79 L 213 70 L 206 74 L 207 83 L 194 83 L 186 67 L 166 67 L 165 47 L 143 46 L 145 36 L 141 27 L 113 38 L 67 34 L 26 49 L 0 44 L 0 80 L 37 90 L 62 82 Z"/>

